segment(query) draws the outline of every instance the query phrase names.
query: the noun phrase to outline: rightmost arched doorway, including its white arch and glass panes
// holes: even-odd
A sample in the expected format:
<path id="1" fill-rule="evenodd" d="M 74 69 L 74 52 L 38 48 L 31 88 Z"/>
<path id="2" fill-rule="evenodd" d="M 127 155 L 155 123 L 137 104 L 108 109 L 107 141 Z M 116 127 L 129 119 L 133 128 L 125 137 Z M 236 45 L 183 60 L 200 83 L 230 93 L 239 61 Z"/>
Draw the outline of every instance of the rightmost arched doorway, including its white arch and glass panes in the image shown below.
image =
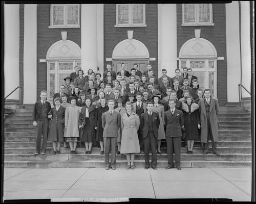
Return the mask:
<path id="1" fill-rule="evenodd" d="M 217 50 L 208 40 L 193 38 L 186 41 L 179 53 L 179 67 L 191 68 L 202 89 L 209 88 L 217 98 Z"/>

